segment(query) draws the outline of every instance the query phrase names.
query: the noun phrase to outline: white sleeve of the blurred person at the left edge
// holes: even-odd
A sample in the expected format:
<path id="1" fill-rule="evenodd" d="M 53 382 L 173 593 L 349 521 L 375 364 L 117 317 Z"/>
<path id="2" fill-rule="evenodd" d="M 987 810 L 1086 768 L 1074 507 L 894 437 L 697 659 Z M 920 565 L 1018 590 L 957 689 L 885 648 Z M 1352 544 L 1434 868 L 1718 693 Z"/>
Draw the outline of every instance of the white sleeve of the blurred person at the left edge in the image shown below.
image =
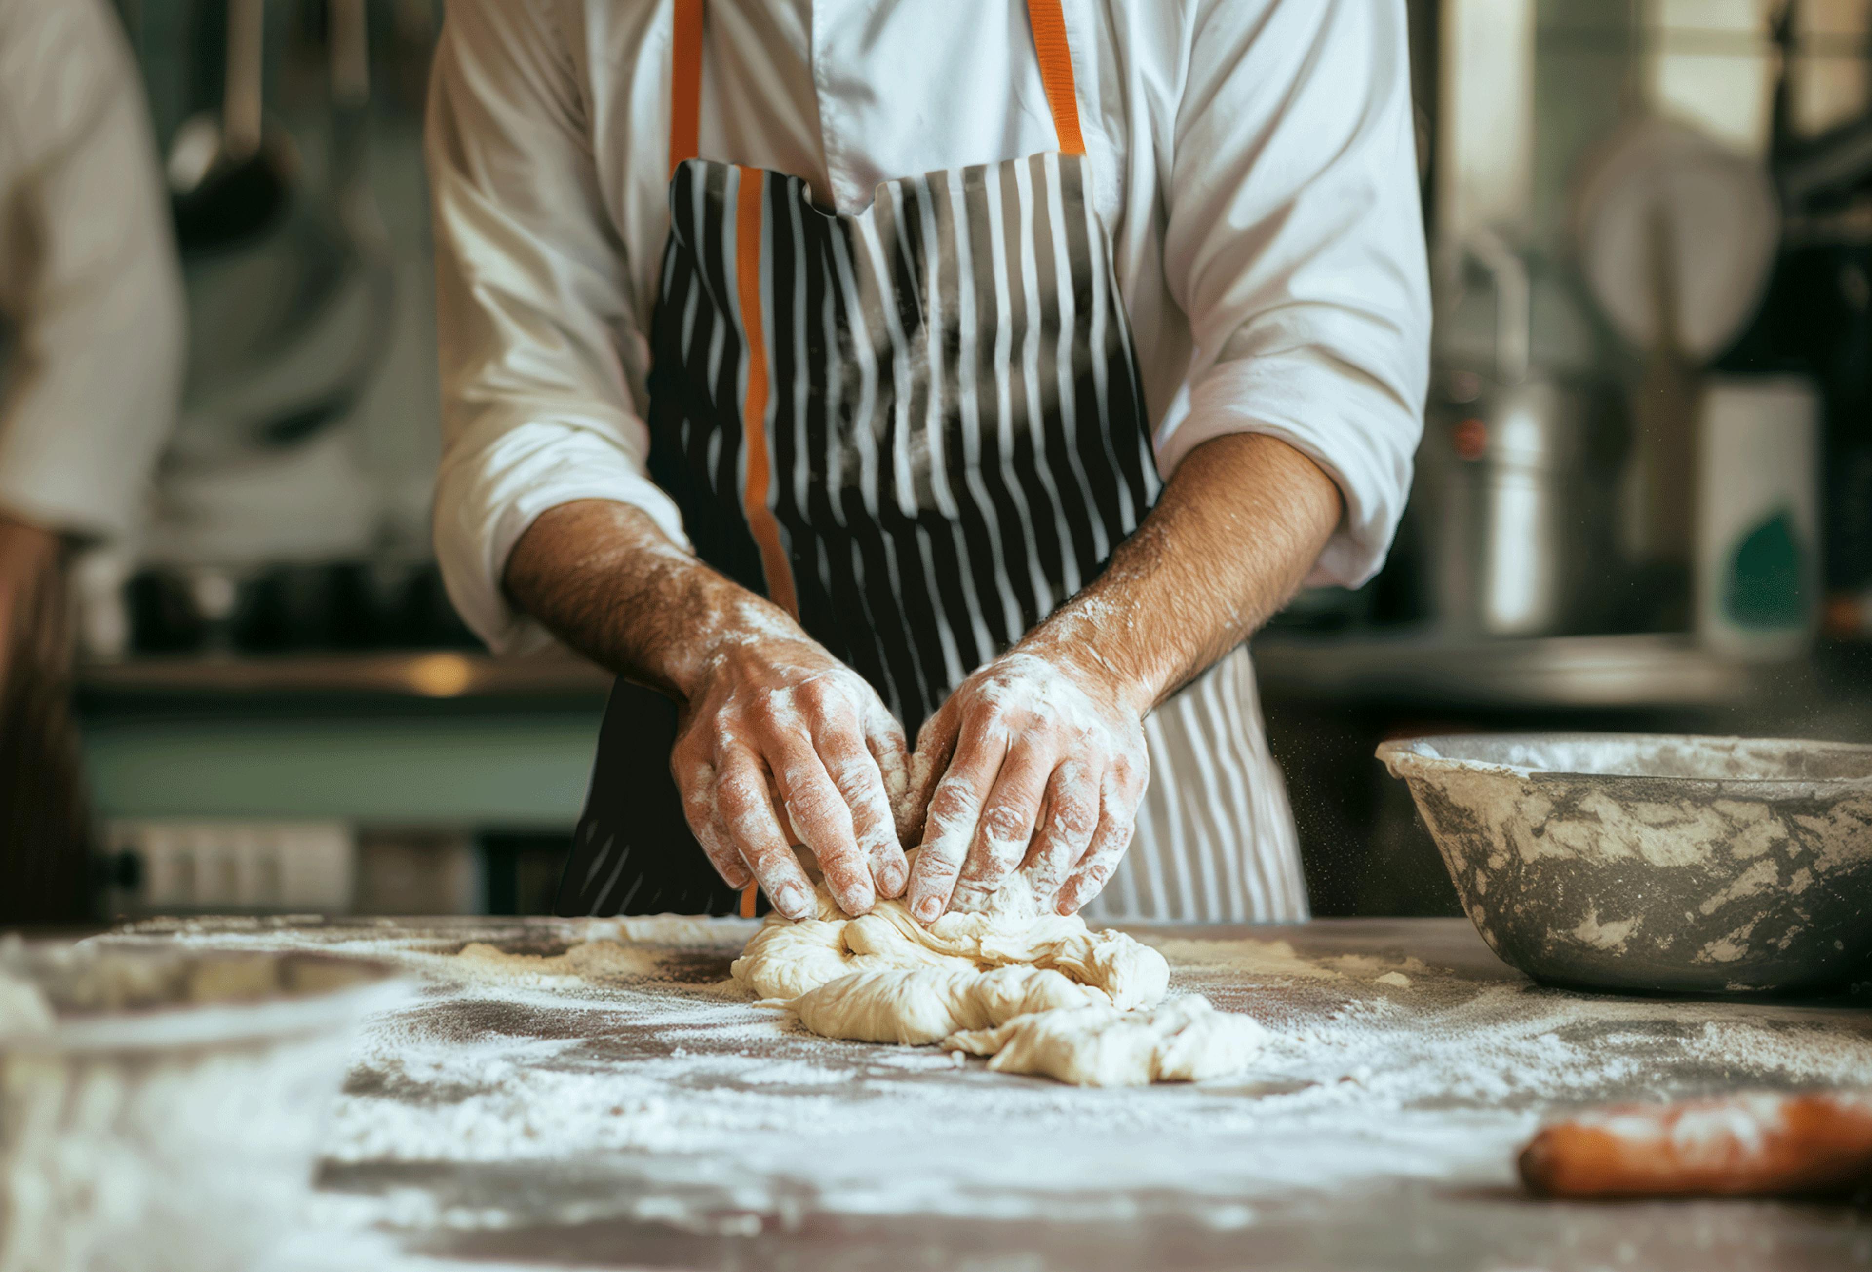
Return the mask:
<path id="1" fill-rule="evenodd" d="M 103 0 L 0 0 L 0 513 L 80 539 L 140 522 L 185 339 L 161 189 Z"/>

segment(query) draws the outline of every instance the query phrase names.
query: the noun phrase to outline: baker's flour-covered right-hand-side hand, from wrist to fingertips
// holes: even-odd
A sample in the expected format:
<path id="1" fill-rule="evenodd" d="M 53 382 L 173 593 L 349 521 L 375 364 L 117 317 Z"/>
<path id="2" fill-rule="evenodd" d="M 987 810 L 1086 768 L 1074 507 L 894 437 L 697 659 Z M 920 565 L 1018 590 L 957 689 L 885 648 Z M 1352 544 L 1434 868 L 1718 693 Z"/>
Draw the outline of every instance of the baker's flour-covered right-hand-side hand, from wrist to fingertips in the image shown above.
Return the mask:
<path id="1" fill-rule="evenodd" d="M 1149 778 L 1146 705 L 1095 658 L 1022 645 L 970 675 L 917 735 L 927 808 L 910 913 L 979 911 L 1013 870 L 1076 913 L 1131 846 Z"/>

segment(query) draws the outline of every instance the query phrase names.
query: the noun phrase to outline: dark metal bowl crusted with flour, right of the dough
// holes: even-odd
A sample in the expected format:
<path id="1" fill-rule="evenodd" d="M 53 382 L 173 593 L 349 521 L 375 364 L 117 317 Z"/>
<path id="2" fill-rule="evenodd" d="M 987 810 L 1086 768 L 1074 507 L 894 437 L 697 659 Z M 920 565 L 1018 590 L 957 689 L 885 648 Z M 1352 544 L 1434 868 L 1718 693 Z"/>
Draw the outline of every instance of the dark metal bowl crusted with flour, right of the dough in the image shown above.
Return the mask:
<path id="1" fill-rule="evenodd" d="M 1498 733 L 1378 758 L 1477 932 L 1537 980 L 1709 993 L 1872 975 L 1872 746 Z"/>

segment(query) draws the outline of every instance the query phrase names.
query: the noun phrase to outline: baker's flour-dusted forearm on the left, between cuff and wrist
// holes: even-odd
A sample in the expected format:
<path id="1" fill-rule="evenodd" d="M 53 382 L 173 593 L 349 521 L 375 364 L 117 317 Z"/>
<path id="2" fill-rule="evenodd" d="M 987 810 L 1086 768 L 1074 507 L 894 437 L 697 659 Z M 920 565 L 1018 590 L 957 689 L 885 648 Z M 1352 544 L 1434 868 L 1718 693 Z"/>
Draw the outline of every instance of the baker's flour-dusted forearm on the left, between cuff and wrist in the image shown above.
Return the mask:
<path id="1" fill-rule="evenodd" d="M 683 552 L 629 503 L 541 513 L 507 557 L 507 597 L 618 675 L 689 700 L 724 642 L 803 638 L 764 597 Z"/>

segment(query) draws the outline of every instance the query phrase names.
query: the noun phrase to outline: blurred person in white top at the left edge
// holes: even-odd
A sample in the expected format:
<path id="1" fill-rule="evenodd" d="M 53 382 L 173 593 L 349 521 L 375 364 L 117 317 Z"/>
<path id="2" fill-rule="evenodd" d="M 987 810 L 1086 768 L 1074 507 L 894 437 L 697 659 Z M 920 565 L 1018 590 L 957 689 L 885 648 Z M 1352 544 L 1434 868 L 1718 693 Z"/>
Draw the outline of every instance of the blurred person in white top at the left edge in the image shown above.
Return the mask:
<path id="1" fill-rule="evenodd" d="M 0 0 L 0 924 L 90 911 L 75 550 L 122 539 L 174 417 L 183 301 L 142 80 L 105 0 Z"/>

